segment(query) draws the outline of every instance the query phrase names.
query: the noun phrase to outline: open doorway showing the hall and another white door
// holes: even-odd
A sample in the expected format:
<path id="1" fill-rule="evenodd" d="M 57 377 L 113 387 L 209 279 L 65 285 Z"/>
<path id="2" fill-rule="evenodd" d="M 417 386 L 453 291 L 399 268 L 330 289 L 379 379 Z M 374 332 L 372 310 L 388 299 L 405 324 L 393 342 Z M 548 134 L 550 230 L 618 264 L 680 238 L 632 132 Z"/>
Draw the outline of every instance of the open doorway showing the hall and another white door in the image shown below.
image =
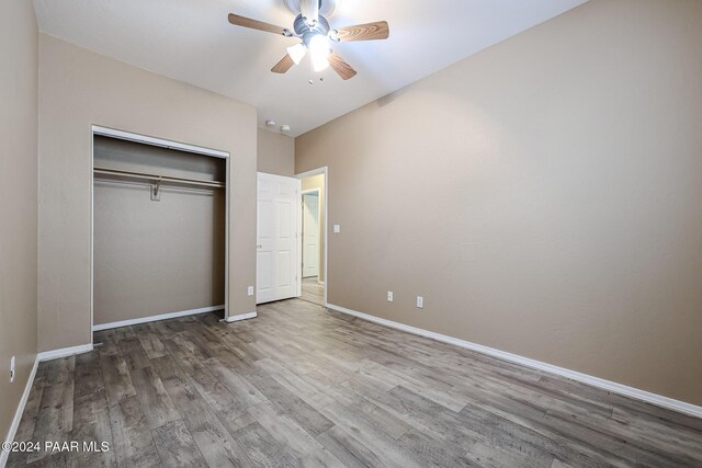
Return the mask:
<path id="1" fill-rule="evenodd" d="M 325 306 L 327 300 L 327 169 L 298 174 L 302 181 L 299 298 Z"/>

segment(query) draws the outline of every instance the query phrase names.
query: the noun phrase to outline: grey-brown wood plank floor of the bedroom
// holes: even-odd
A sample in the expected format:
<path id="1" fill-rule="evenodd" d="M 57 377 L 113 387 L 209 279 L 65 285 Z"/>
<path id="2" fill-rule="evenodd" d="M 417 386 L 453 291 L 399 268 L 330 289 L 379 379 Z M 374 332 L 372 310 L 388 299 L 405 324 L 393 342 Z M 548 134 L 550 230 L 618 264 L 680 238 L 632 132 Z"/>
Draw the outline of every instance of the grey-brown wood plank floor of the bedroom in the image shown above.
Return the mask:
<path id="1" fill-rule="evenodd" d="M 9 466 L 702 466 L 686 416 L 302 300 L 95 333 L 42 363 Z"/>

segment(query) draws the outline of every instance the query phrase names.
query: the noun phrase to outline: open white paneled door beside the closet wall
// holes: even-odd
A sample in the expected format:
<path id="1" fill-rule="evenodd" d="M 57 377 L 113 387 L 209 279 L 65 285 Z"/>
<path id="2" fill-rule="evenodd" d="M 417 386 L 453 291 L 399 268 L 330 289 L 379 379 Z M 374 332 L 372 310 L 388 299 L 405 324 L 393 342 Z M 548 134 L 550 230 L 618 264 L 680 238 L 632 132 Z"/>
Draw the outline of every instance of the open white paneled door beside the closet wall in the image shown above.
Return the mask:
<path id="1" fill-rule="evenodd" d="M 301 181 L 258 174 L 256 303 L 297 296 Z"/>

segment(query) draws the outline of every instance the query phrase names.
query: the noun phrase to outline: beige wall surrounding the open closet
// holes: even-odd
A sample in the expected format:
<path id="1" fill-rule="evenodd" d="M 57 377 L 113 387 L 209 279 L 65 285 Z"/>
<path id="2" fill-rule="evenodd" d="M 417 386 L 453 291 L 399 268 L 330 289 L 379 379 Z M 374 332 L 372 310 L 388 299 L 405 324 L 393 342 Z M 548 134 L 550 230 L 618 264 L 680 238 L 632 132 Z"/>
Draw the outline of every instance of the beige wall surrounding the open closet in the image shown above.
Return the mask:
<path id="1" fill-rule="evenodd" d="M 41 35 L 39 349 L 90 343 L 91 125 L 229 151 L 229 313 L 256 309 L 256 109 Z"/>

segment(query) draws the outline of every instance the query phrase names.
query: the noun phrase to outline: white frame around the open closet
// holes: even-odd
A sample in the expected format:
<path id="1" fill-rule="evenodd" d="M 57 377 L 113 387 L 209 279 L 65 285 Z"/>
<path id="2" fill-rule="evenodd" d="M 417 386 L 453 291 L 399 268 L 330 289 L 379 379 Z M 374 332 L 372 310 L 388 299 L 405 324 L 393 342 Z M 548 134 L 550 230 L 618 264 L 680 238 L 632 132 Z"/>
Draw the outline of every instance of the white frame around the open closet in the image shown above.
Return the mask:
<path id="1" fill-rule="evenodd" d="M 230 170 L 229 159 L 231 155 L 227 151 L 220 151 L 218 149 L 188 145 L 180 141 L 172 141 L 172 140 L 167 140 L 162 138 L 150 137 L 147 135 L 118 130 L 115 128 L 103 127 L 100 125 L 92 125 L 91 134 L 92 136 L 90 138 L 90 343 L 94 344 L 93 332 L 97 331 L 95 319 L 94 319 L 94 303 L 95 303 L 95 298 L 94 298 L 94 281 L 95 281 L 94 278 L 94 212 L 95 212 L 94 189 L 95 189 L 95 181 L 94 181 L 94 172 L 93 172 L 94 161 L 95 161 L 94 140 L 97 135 L 105 136 L 110 138 L 123 139 L 127 141 L 135 141 L 143 145 L 158 146 L 162 148 L 170 148 L 170 149 L 176 149 L 176 150 L 181 150 L 186 152 L 194 152 L 197 155 L 210 156 L 213 158 L 225 160 L 226 187 L 225 187 L 225 221 L 224 221 L 225 224 L 225 228 L 224 228 L 225 229 L 224 231 L 224 236 L 225 236 L 224 319 L 226 321 L 229 321 L 230 320 L 230 317 L 229 317 L 229 206 L 230 206 L 229 196 L 231 193 L 230 191 L 231 178 L 229 176 L 229 170 Z M 222 309 L 219 307 L 213 307 L 212 310 L 222 310 Z M 190 311 L 186 311 L 186 312 L 190 312 Z M 165 316 L 149 317 L 149 318 L 146 318 L 145 321 L 161 320 L 163 318 L 166 317 Z M 150 320 L 150 319 L 154 319 L 154 320 Z M 236 319 L 236 317 L 233 317 L 231 319 Z"/>

